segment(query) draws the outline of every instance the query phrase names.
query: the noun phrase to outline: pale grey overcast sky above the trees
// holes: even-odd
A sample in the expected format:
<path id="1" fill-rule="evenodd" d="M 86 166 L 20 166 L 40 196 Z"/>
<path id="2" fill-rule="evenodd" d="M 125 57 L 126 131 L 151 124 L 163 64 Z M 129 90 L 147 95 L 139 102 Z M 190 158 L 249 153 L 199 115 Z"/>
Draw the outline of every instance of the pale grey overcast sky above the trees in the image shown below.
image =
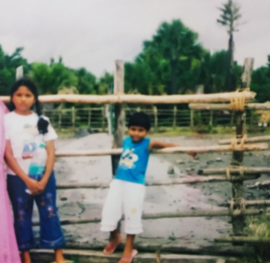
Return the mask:
<path id="1" fill-rule="evenodd" d="M 19 46 L 28 62 L 85 67 L 97 77 L 117 59 L 133 61 L 142 42 L 162 21 L 180 19 L 199 33 L 211 52 L 226 49 L 228 35 L 217 24 L 227 0 L 0 0 L 0 44 L 8 54 Z M 238 0 L 242 21 L 235 33 L 235 60 L 254 57 L 255 68 L 270 55 L 270 1 Z"/>

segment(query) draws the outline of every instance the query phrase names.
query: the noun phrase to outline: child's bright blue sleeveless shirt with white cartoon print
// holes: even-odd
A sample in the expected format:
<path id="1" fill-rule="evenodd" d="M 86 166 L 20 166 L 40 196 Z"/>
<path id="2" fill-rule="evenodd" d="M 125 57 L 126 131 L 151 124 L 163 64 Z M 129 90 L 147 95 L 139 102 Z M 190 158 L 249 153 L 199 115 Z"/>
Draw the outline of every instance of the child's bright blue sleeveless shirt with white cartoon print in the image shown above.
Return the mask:
<path id="1" fill-rule="evenodd" d="M 145 183 L 145 172 L 149 160 L 150 138 L 144 138 L 140 143 L 133 143 L 131 137 L 123 142 L 123 152 L 117 168 L 115 179 L 132 183 Z"/>

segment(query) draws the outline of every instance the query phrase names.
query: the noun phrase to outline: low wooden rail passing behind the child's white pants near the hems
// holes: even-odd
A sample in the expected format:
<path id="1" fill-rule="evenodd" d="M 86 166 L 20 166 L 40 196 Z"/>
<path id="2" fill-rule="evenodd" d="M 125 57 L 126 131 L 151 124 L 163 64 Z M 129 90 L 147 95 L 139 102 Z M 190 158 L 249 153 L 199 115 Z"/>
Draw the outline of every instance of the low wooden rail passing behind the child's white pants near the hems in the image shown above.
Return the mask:
<path id="1" fill-rule="evenodd" d="M 237 217 L 239 215 L 260 215 L 259 209 L 247 209 L 245 211 L 233 210 L 231 214 L 228 209 L 226 210 L 192 210 L 192 211 L 180 211 L 180 212 L 159 212 L 154 214 L 144 214 L 142 219 L 161 219 L 161 218 L 175 218 L 175 217 Z M 124 220 L 124 217 L 121 218 Z M 98 223 L 101 221 L 101 217 L 85 217 L 85 218 L 72 218 L 61 220 L 61 225 L 69 224 L 87 224 Z M 38 226 L 39 221 L 33 221 L 33 226 Z"/>

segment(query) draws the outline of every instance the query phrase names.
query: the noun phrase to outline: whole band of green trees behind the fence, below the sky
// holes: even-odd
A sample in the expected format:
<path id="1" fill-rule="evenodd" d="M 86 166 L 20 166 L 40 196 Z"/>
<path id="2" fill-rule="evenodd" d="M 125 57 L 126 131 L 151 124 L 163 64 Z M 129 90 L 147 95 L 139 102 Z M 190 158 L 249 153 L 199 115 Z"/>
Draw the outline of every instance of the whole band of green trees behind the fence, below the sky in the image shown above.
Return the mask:
<path id="1" fill-rule="evenodd" d="M 205 93 L 230 91 L 226 88 L 227 51 L 210 53 L 199 42 L 198 34 L 180 20 L 160 25 L 152 39 L 143 42 L 142 52 L 134 62 L 125 64 L 125 92 L 146 95 L 194 93 L 203 84 Z M 40 94 L 56 94 L 63 87 L 76 87 L 80 94 L 107 94 L 113 76 L 101 78 L 85 68 L 70 69 L 62 57 L 50 64 L 29 64 L 22 57 L 23 48 L 12 55 L 4 53 L 0 45 L 0 95 L 8 95 L 15 81 L 16 69 L 23 66 L 24 75 L 33 79 Z M 116 58 L 117 59 L 117 58 Z M 242 66 L 234 62 L 232 90 L 240 84 Z M 251 90 L 258 102 L 270 100 L 270 55 L 268 64 L 253 71 Z"/>

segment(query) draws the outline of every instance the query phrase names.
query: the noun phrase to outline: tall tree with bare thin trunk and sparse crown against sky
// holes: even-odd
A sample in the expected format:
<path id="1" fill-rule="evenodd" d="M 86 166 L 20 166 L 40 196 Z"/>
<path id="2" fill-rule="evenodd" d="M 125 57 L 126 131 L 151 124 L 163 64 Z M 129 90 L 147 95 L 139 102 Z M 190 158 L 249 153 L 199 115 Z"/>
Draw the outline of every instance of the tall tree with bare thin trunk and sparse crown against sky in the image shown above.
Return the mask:
<path id="1" fill-rule="evenodd" d="M 242 17 L 242 15 L 239 13 L 239 6 L 237 6 L 233 0 L 228 0 L 228 2 L 223 3 L 222 6 L 223 7 L 219 8 L 219 10 L 221 10 L 221 15 L 220 19 L 217 19 L 217 22 L 226 28 L 229 35 L 226 88 L 228 91 L 233 91 L 233 33 L 238 31 L 237 28 L 239 26 L 239 19 Z"/>

